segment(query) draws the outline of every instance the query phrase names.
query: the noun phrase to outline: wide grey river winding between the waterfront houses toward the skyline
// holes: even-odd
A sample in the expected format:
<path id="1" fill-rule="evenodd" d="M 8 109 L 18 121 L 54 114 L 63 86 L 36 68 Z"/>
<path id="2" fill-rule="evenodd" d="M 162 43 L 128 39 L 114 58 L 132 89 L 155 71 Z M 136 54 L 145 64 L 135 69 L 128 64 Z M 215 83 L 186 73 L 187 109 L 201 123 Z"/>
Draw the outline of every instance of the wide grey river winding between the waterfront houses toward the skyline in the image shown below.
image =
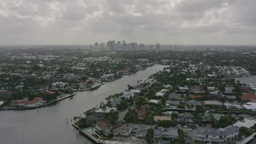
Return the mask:
<path id="1" fill-rule="evenodd" d="M 52 106 L 37 110 L 0 111 L 0 143 L 86 143 L 70 119 L 100 104 L 108 95 L 123 92 L 127 85 L 137 80 L 146 80 L 164 65 L 156 65 L 136 74 L 124 75 L 121 79 L 106 82 L 95 91 L 76 92 Z M 66 119 L 68 120 L 68 124 Z M 88 143 L 91 143 L 88 141 Z"/>

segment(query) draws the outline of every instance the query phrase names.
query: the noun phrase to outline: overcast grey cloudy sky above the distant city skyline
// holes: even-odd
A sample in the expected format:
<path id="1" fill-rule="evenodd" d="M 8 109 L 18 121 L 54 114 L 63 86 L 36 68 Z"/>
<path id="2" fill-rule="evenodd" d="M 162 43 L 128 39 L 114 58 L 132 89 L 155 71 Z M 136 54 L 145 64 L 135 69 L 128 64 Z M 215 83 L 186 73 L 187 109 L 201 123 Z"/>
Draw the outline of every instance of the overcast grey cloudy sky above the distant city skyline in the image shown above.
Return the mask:
<path id="1" fill-rule="evenodd" d="M 0 44 L 256 44 L 255 0 L 0 0 Z"/>

